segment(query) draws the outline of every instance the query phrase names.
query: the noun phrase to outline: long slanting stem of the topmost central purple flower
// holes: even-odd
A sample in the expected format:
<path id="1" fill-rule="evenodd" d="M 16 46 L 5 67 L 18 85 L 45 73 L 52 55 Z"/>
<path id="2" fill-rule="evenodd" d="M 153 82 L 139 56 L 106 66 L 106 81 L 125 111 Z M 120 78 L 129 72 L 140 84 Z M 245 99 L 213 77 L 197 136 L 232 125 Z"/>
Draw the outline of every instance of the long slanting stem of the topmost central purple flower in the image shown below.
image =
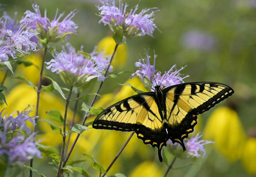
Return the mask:
<path id="1" fill-rule="evenodd" d="M 110 59 L 110 61 L 109 61 L 109 65 L 108 65 L 108 67 L 107 67 L 107 69 L 106 69 L 106 72 L 105 72 L 105 74 L 104 74 L 105 77 L 107 76 L 108 69 L 109 69 L 109 67 L 110 67 L 110 65 L 111 65 L 111 62 L 112 62 L 114 56 L 115 56 L 117 47 L 118 47 L 118 44 L 116 44 L 116 47 L 115 47 L 115 49 L 114 49 L 114 51 L 113 51 L 113 53 L 112 53 L 111 59 Z M 100 86 L 99 86 L 99 88 L 98 88 L 98 90 L 97 90 L 97 92 L 96 92 L 97 94 L 100 92 L 100 88 L 101 88 L 102 84 L 103 84 L 103 81 L 100 82 Z M 97 98 L 97 95 L 94 96 L 94 98 L 93 98 L 93 100 L 92 100 L 92 103 L 91 103 L 91 105 L 89 106 L 89 110 L 90 110 L 90 108 L 93 106 L 93 104 L 94 104 L 96 98 Z M 84 114 L 84 120 L 83 120 L 82 125 L 84 125 L 86 119 L 88 118 L 88 113 L 89 113 L 89 112 L 86 112 L 86 113 Z M 64 160 L 62 167 L 64 167 L 64 166 L 66 165 L 66 163 L 67 163 L 67 161 L 68 161 L 68 158 L 70 157 L 70 154 L 71 154 L 72 150 L 74 149 L 74 146 L 76 145 L 76 142 L 77 142 L 79 136 L 80 136 L 80 134 L 77 134 L 77 135 L 76 135 L 76 139 L 75 139 L 75 141 L 73 142 L 73 144 L 72 144 L 70 150 L 68 151 L 68 155 L 67 155 L 66 159 Z"/>

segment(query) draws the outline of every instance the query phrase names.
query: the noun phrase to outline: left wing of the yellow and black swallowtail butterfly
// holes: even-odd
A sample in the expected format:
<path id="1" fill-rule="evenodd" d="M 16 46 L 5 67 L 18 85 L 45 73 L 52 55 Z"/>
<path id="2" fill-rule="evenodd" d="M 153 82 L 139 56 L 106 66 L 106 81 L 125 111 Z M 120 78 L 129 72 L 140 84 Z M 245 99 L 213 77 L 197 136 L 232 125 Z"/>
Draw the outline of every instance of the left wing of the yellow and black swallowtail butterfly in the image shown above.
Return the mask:
<path id="1" fill-rule="evenodd" d="M 94 120 L 92 127 L 118 131 L 135 131 L 137 137 L 145 144 L 158 148 L 159 159 L 161 149 L 165 145 L 167 132 L 163 127 L 156 95 L 146 92 L 128 97 L 102 111 Z"/>

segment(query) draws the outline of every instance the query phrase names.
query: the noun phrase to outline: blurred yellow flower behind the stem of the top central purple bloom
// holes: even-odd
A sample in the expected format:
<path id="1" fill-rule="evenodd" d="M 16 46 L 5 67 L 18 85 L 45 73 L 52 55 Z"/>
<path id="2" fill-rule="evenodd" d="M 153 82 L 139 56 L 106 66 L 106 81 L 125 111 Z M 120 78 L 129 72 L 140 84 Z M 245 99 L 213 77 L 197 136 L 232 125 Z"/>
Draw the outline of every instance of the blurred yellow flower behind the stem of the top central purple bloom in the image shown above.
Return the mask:
<path id="1" fill-rule="evenodd" d="M 104 51 L 106 55 L 112 55 L 116 46 L 116 42 L 111 36 L 104 37 L 100 40 L 99 44 L 97 45 L 96 51 Z M 128 47 L 126 43 L 123 43 L 117 47 L 116 54 L 112 61 L 112 66 L 115 69 L 123 68 L 124 64 L 126 63 L 128 57 Z"/>

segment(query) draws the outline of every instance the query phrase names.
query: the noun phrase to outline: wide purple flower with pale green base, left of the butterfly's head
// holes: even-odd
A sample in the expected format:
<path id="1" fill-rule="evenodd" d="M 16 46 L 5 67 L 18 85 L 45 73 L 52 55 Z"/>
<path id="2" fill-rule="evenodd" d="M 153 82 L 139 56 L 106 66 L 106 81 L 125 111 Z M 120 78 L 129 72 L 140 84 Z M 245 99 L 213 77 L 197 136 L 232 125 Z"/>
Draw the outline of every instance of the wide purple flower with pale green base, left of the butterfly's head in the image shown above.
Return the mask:
<path id="1" fill-rule="evenodd" d="M 105 59 L 100 59 L 97 56 L 85 58 L 76 52 L 73 46 L 67 44 L 66 48 L 63 46 L 60 53 L 55 51 L 53 59 L 46 63 L 48 65 L 46 68 L 59 73 L 62 81 L 66 84 L 80 86 L 95 77 L 98 77 L 98 81 L 103 81 L 105 77 L 102 71 L 108 65 L 105 62 Z"/>

